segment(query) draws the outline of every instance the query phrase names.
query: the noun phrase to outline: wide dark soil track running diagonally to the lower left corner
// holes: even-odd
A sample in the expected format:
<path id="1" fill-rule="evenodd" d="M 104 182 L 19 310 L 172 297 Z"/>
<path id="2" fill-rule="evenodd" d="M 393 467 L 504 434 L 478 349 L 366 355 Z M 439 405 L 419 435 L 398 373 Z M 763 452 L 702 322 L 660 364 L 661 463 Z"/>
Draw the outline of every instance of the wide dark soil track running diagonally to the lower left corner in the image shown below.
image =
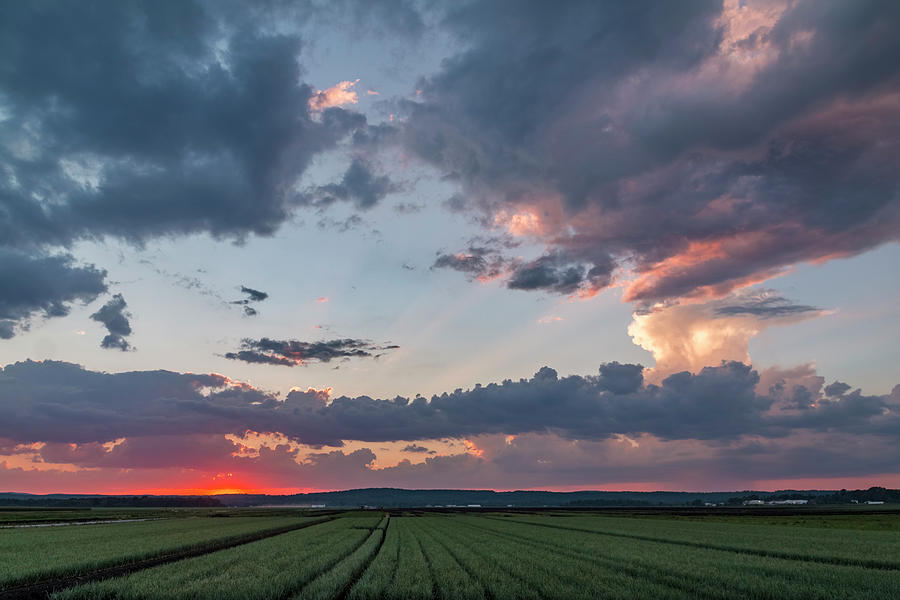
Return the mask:
<path id="1" fill-rule="evenodd" d="M 275 537 L 276 535 L 281 535 L 283 533 L 297 531 L 298 529 L 305 529 L 307 527 L 312 527 L 313 525 L 320 525 L 322 523 L 334 520 L 336 518 L 334 515 L 336 514 L 337 513 L 334 513 L 333 515 L 323 516 L 321 519 L 316 519 L 315 521 L 306 521 L 303 523 L 296 523 L 294 525 L 286 525 L 277 529 L 267 529 L 255 533 L 244 534 L 238 537 L 210 542 L 176 552 L 168 552 L 165 554 L 160 554 L 157 556 L 152 556 L 150 558 L 136 560 L 134 562 L 125 564 L 104 567 L 101 569 L 95 569 L 93 571 L 77 573 L 74 575 L 54 577 L 52 579 L 45 579 L 42 581 L 36 581 L 34 583 L 18 585 L 5 589 L 0 588 L 0 600 L 46 600 L 46 598 L 48 598 L 55 592 L 74 587 L 76 585 L 81 585 L 83 583 L 102 581 L 104 579 L 111 579 L 113 577 L 130 575 L 131 573 L 143 571 L 144 569 L 149 569 L 151 567 L 158 567 L 160 565 L 173 563 L 179 560 L 184 560 L 186 558 L 203 556 L 204 554 L 211 554 L 213 552 L 218 552 L 219 550 L 226 550 L 228 548 L 234 548 L 236 546 L 242 546 L 251 542 Z"/>

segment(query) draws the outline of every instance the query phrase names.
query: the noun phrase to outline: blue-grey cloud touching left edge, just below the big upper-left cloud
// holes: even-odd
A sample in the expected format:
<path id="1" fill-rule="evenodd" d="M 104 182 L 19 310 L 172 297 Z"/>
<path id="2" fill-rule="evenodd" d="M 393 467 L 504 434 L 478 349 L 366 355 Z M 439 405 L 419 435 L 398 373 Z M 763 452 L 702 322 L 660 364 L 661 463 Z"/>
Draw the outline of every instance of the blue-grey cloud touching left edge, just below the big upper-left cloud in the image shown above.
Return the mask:
<path id="1" fill-rule="evenodd" d="M 106 271 L 78 265 L 68 254 L 47 255 L 0 246 L 0 338 L 27 329 L 36 315 L 69 314 L 72 302 L 106 292 Z"/>

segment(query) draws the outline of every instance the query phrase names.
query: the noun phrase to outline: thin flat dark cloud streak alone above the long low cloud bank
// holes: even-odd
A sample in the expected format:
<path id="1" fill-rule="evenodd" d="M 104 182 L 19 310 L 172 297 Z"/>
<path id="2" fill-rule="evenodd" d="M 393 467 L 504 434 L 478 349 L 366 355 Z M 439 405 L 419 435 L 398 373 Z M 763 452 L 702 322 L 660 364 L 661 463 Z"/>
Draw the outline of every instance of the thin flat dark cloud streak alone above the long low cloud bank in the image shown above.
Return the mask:
<path id="1" fill-rule="evenodd" d="M 301 342 L 298 340 L 272 340 L 245 338 L 241 350 L 228 352 L 225 358 L 247 363 L 261 363 L 293 367 L 310 362 L 331 362 L 335 359 L 378 358 L 386 350 L 399 346 L 377 345 L 368 340 L 337 339 L 322 342 Z"/>

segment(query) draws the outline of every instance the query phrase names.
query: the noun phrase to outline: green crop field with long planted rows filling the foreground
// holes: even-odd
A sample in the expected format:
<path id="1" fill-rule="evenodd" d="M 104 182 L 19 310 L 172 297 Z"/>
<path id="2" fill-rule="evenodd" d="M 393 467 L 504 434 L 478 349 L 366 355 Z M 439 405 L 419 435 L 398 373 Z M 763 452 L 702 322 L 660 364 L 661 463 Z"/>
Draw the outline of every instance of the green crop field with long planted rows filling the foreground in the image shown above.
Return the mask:
<path id="1" fill-rule="evenodd" d="M 19 572 L 21 578 L 24 565 L 34 572 L 40 564 L 43 573 L 89 573 L 91 564 L 157 552 L 173 543 L 178 527 L 182 537 L 227 537 L 290 518 L 21 529 L 13 530 L 15 549 L 3 531 L 0 572 Z M 61 589 L 53 597 L 900 598 L 900 515 L 811 515 L 798 524 L 788 518 L 798 517 L 767 517 L 776 519 L 772 524 L 756 517 L 344 513 L 304 529 Z M 884 530 L 852 519 L 874 519 Z M 55 553 L 53 540 L 41 537 L 46 533 L 65 534 L 65 540 L 56 538 L 62 547 Z M 79 563 L 73 560 L 79 553 L 93 556 Z"/>

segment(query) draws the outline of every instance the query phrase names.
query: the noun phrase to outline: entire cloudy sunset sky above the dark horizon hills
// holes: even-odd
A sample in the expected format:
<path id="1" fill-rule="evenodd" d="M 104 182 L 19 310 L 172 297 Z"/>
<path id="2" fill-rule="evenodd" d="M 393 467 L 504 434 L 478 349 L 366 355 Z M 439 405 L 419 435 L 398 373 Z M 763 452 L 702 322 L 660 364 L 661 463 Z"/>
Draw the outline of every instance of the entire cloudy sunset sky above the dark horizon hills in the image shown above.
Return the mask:
<path id="1" fill-rule="evenodd" d="M 898 25 L 0 5 L 0 491 L 900 487 Z"/>

